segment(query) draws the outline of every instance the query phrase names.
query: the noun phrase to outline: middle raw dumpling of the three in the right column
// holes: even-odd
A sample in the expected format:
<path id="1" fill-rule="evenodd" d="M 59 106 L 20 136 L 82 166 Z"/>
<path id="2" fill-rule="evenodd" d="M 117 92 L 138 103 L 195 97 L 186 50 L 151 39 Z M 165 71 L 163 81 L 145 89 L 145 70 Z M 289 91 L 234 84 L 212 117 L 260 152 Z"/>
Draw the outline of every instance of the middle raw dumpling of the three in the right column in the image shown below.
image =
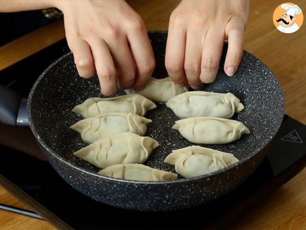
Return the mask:
<path id="1" fill-rule="evenodd" d="M 179 130 L 188 141 L 197 144 L 227 144 L 250 133 L 243 123 L 223 118 L 196 117 L 176 121 L 172 129 Z"/>

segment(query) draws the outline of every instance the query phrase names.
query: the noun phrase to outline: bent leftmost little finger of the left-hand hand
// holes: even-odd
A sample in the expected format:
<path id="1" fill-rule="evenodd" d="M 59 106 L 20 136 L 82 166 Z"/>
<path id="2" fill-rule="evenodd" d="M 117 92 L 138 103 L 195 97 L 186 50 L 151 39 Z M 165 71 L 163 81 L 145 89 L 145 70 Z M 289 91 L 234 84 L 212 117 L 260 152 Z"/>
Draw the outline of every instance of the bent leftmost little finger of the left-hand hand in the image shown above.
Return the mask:
<path id="1" fill-rule="evenodd" d="M 89 44 L 79 37 L 67 36 L 67 41 L 79 75 L 83 78 L 92 77 L 95 68 Z"/>

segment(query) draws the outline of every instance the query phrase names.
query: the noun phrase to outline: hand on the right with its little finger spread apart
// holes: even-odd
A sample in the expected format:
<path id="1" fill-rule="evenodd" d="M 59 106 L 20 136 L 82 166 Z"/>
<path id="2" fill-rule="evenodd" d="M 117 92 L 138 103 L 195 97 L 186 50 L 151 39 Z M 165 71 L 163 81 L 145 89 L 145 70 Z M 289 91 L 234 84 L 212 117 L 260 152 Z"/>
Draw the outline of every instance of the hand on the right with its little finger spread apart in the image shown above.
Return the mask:
<path id="1" fill-rule="evenodd" d="M 224 72 L 233 76 L 243 53 L 248 0 L 182 0 L 170 16 L 165 65 L 177 84 L 198 89 L 218 72 L 224 40 Z"/>

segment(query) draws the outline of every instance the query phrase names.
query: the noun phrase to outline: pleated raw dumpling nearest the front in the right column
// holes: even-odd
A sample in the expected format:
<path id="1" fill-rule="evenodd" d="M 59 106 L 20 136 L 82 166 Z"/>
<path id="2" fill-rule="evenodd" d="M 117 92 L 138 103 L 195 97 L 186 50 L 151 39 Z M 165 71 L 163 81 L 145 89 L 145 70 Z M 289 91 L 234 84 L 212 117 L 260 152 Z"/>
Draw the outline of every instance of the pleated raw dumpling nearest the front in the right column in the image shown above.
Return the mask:
<path id="1" fill-rule="evenodd" d="M 190 146 L 173 150 L 164 162 L 175 165 L 177 173 L 189 178 L 223 169 L 239 162 L 239 159 L 232 153 L 220 152 L 200 146 Z"/>

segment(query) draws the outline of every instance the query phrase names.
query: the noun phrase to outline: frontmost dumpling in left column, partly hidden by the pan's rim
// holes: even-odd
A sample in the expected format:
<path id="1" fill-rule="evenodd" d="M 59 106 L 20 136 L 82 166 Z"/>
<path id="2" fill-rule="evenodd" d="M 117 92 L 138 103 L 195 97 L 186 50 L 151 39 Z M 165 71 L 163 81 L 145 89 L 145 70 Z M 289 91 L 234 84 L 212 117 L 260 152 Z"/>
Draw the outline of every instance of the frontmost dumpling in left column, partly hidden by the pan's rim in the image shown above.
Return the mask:
<path id="1" fill-rule="evenodd" d="M 127 180 L 176 180 L 177 174 L 138 164 L 112 165 L 98 172 L 100 175 Z"/>

